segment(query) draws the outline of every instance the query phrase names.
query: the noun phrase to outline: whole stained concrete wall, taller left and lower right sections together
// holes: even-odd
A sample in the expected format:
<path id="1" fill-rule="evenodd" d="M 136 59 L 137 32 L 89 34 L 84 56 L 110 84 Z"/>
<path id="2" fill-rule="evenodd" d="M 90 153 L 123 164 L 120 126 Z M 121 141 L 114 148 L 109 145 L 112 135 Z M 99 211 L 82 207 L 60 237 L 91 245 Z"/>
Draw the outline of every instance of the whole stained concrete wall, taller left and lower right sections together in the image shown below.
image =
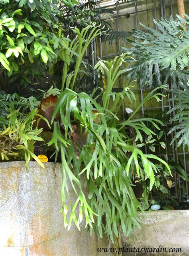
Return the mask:
<path id="1" fill-rule="evenodd" d="M 24 161 L 0 163 L 0 256 L 97 256 L 96 248 L 120 247 L 110 244 L 106 236 L 98 241 L 87 230 L 79 232 L 74 225 L 70 231 L 64 229 L 63 215 L 59 212 L 60 163 L 44 163 L 43 169 L 30 162 L 29 173 L 24 164 Z M 122 236 L 124 250 L 181 247 L 181 254 L 159 255 L 189 255 L 188 210 L 146 212 L 146 218 L 139 216 L 144 225 L 128 238 Z"/>

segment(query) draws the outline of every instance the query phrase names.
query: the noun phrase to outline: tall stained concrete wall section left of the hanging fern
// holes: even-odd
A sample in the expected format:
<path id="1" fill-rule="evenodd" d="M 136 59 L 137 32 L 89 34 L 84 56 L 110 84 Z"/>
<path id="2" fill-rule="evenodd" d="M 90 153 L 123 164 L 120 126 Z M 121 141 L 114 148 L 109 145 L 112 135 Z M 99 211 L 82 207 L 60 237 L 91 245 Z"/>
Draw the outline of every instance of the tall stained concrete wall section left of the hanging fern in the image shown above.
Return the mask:
<path id="1" fill-rule="evenodd" d="M 29 173 L 24 164 L 0 163 L 0 256 L 96 256 L 109 247 L 106 236 L 98 241 L 75 224 L 64 229 L 60 163 L 30 162 Z"/>

